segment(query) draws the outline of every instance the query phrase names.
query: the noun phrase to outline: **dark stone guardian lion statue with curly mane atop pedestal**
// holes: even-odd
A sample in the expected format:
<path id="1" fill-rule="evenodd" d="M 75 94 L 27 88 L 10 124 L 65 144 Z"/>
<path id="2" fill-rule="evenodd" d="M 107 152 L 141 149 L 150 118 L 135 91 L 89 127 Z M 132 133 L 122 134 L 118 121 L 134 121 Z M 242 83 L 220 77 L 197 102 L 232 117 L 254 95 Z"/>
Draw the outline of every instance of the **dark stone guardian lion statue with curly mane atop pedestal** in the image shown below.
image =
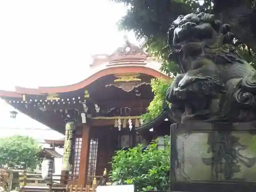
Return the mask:
<path id="1" fill-rule="evenodd" d="M 256 70 L 234 47 L 230 26 L 214 15 L 180 15 L 168 30 L 169 59 L 182 74 L 166 99 L 181 122 L 256 119 Z"/>

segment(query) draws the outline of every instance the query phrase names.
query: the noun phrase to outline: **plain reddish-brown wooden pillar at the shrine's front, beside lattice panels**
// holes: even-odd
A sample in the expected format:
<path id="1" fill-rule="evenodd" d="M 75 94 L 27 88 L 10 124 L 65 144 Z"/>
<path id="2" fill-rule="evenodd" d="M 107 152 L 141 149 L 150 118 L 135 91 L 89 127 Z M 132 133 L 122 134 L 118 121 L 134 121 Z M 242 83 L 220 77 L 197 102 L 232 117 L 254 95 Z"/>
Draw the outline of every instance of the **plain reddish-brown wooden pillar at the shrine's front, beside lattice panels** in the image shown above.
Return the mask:
<path id="1" fill-rule="evenodd" d="M 78 185 L 86 186 L 87 174 L 88 174 L 89 146 L 90 146 L 90 126 L 88 124 L 83 124 L 82 148 L 81 148 L 81 155 L 80 155 Z"/>

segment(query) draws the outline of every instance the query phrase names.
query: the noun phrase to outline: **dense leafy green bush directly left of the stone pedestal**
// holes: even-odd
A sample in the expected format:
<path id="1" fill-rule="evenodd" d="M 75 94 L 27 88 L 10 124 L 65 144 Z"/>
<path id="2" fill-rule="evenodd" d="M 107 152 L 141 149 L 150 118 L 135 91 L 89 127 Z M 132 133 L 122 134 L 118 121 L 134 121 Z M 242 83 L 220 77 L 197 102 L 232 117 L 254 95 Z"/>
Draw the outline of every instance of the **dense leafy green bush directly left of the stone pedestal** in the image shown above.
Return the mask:
<path id="1" fill-rule="evenodd" d="M 167 140 L 167 137 L 165 138 Z M 115 184 L 134 184 L 135 191 L 168 190 L 170 147 L 158 150 L 153 141 L 145 150 L 139 144 L 129 151 L 118 151 L 112 159 L 110 179 Z"/>

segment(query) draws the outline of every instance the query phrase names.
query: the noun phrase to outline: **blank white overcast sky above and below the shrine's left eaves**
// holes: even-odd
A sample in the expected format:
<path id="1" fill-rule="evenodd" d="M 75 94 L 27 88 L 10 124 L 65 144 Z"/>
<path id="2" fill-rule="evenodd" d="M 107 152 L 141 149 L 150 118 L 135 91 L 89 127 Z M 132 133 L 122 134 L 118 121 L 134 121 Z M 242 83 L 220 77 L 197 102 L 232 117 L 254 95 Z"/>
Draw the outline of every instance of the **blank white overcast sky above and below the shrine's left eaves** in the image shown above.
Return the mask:
<path id="1" fill-rule="evenodd" d="M 111 53 L 123 44 L 124 33 L 116 23 L 125 11 L 122 4 L 109 0 L 0 1 L 0 89 L 63 86 L 83 80 L 91 55 Z M 137 43 L 133 33 L 128 36 Z M 23 114 L 10 119 L 11 109 L 1 104 L 1 127 L 46 128 Z"/>

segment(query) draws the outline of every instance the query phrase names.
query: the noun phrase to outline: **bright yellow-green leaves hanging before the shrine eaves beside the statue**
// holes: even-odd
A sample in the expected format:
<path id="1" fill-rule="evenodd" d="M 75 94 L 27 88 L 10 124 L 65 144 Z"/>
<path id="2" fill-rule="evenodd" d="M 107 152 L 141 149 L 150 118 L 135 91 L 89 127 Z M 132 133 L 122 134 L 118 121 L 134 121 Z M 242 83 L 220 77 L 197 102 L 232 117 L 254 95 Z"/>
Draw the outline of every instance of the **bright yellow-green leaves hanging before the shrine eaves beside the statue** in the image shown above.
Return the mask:
<path id="1" fill-rule="evenodd" d="M 162 105 L 165 101 L 165 93 L 169 87 L 169 83 L 165 79 L 152 79 L 151 87 L 154 93 L 154 99 L 147 108 L 147 113 L 143 115 L 145 122 L 156 118 L 162 111 Z"/>

